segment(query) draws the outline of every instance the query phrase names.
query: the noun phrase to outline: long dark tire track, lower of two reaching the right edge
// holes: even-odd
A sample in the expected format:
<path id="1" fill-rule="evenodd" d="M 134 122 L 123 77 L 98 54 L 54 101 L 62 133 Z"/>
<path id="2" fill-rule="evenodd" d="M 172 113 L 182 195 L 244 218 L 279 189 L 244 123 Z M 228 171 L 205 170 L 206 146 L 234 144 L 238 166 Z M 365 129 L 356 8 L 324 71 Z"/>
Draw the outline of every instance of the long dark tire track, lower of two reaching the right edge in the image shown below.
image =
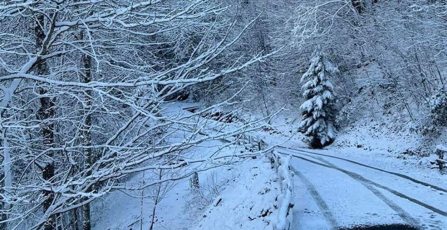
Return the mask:
<path id="1" fill-rule="evenodd" d="M 278 153 L 281 153 L 281 152 L 278 152 Z M 287 155 L 289 155 L 290 153 L 281 153 L 281 154 L 287 154 Z M 296 157 L 296 158 L 300 158 L 300 159 L 305 160 L 305 161 L 308 161 L 308 162 L 313 163 L 313 164 L 317 164 L 317 165 L 320 165 L 320 166 L 323 166 L 323 167 L 327 167 L 327 168 L 332 168 L 332 169 L 335 169 L 335 170 L 344 172 L 344 173 L 346 173 L 346 174 L 354 173 L 354 172 L 351 172 L 351 171 L 348 171 L 348 170 L 345 170 L 345 169 L 342 169 L 342 168 L 331 167 L 331 166 L 329 166 L 329 165 L 326 165 L 326 164 L 323 164 L 323 163 L 320 163 L 320 162 L 316 162 L 316 161 L 313 161 L 313 160 L 310 160 L 310 159 L 307 159 L 307 158 L 304 158 L 304 157 L 301 157 L 301 156 L 297 156 L 297 155 L 292 155 L 292 156 L 293 156 L 293 157 Z M 354 173 L 354 174 L 356 174 L 356 173 Z M 422 207 L 424 207 L 424 208 L 426 208 L 426 209 L 429 209 L 429 210 L 431 210 L 431 211 L 433 211 L 433 212 L 435 212 L 435 213 L 437 213 L 437 214 L 439 214 L 439 215 L 442 215 L 442 216 L 447 217 L 447 212 L 446 212 L 446 211 L 437 209 L 437 208 L 435 208 L 435 207 L 433 207 L 433 206 L 431 206 L 431 205 L 428 205 L 428 204 L 426 204 L 426 203 L 424 203 L 424 202 L 421 202 L 421 201 L 419 201 L 419 200 L 416 200 L 416 199 L 414 199 L 414 198 L 411 198 L 411 197 L 409 197 L 409 196 L 407 196 L 407 195 L 405 195 L 405 194 L 403 194 L 403 193 L 400 193 L 400 192 L 398 192 L 398 191 L 396 191 L 396 190 L 394 190 L 394 189 L 391 189 L 391 188 L 385 187 L 385 186 L 383 186 L 383 185 L 381 185 L 381 184 L 375 183 L 375 182 L 373 182 L 373 181 L 371 181 L 371 180 L 366 179 L 365 177 L 363 177 L 363 176 L 361 176 L 361 175 L 359 175 L 359 174 L 357 174 L 357 175 L 359 176 L 359 178 L 362 178 L 362 180 L 364 180 L 366 183 L 372 184 L 372 185 L 374 185 L 374 186 L 376 186 L 376 187 L 378 187 L 378 188 L 381 188 L 381 189 L 383 189 L 383 190 L 386 190 L 386 191 L 388 191 L 388 192 L 390 192 L 390 193 L 392 193 L 392 194 L 394 194 L 394 195 L 396 195 L 396 196 L 398 196 L 398 197 L 407 199 L 407 200 L 409 200 L 409 201 L 411 201 L 411 202 L 413 202 L 413 203 L 415 203 L 415 204 L 417 204 L 417 205 L 420 205 L 420 206 L 422 206 Z"/>

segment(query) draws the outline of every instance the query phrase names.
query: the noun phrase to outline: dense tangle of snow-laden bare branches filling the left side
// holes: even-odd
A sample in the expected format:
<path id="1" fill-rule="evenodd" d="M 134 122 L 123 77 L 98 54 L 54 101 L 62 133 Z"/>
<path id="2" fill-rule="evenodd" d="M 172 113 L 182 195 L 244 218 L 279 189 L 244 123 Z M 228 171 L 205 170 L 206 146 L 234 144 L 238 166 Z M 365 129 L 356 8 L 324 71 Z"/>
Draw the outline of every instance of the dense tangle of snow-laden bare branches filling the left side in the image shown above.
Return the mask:
<path id="1" fill-rule="evenodd" d="M 188 86 L 266 57 L 239 63 L 226 55 L 243 30 L 230 36 L 234 22 L 221 18 L 224 10 L 210 0 L 1 3 L 0 168 L 12 169 L 0 178 L 6 190 L 0 190 L 6 217 L 0 227 L 67 227 L 73 223 L 61 215 L 122 189 L 129 174 L 234 160 L 182 154 L 210 140 L 231 140 L 259 122 L 203 136 L 210 124 L 200 113 L 164 113 Z"/>

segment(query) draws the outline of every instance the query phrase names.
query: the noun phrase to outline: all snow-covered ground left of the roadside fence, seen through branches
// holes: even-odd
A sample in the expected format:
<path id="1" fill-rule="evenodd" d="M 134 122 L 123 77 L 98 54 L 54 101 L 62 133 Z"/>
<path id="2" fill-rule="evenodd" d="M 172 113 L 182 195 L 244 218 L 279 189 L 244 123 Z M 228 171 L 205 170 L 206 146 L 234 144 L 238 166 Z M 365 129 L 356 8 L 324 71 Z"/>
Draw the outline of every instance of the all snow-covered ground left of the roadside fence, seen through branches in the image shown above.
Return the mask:
<path id="1" fill-rule="evenodd" d="M 195 105 L 174 103 L 163 109 L 163 113 L 185 117 L 189 112 L 183 108 Z M 228 124 L 209 120 L 203 124 L 204 134 L 199 136 L 215 132 L 208 127 L 219 129 L 219 132 L 231 129 Z M 178 130 L 172 139 L 184 138 L 189 133 L 188 130 Z M 224 147 L 226 144 L 225 140 L 208 141 L 188 149 L 183 155 L 207 157 L 216 153 L 219 156 L 247 151 L 243 144 Z M 134 174 L 126 179 L 126 187 L 139 189 L 113 191 L 93 203 L 93 230 L 149 229 L 154 207 L 155 230 L 273 230 L 289 224 L 292 186 L 288 166 L 274 165 L 267 155 L 262 155 L 201 171 L 207 167 L 213 167 L 213 162 L 185 167 L 182 174 L 199 171 L 200 187 L 191 188 L 189 177 L 163 184 L 161 200 L 156 206 L 157 186 L 141 188 L 158 177 L 157 171 Z"/>

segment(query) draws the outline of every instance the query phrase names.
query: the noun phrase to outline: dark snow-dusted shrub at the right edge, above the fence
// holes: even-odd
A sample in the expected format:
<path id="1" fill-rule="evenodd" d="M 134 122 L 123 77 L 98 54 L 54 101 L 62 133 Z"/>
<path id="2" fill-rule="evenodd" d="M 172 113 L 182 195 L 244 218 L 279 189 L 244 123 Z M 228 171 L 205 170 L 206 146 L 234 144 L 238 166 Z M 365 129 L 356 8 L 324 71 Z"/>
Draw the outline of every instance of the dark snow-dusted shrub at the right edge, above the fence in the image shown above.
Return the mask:
<path id="1" fill-rule="evenodd" d="M 429 106 L 435 125 L 447 126 L 447 90 L 444 87 L 430 98 Z"/>

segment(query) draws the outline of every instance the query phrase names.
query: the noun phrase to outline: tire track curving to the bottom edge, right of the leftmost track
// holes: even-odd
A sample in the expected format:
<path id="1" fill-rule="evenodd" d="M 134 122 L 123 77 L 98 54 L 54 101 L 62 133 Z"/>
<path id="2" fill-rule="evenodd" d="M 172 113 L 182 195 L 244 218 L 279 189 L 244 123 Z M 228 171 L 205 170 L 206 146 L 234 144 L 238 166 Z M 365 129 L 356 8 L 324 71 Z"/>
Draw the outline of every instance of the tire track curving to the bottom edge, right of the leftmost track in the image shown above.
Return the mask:
<path id="1" fill-rule="evenodd" d="M 310 156 L 307 154 L 303 154 L 306 155 L 308 157 L 312 157 L 314 159 L 317 159 L 331 167 L 334 168 L 338 168 L 341 169 L 340 167 L 336 166 L 335 164 L 321 158 L 318 156 Z M 358 182 L 360 182 L 363 186 L 365 186 L 366 188 L 368 188 L 371 192 L 374 193 L 375 196 L 377 196 L 378 198 L 380 198 L 388 207 L 390 207 L 392 210 L 394 210 L 394 212 L 396 212 L 396 214 L 402 218 L 403 221 L 405 221 L 408 225 L 421 230 L 422 228 L 420 227 L 419 222 L 414 219 L 413 217 L 411 217 L 411 215 L 409 213 L 407 213 L 405 210 L 403 210 L 400 206 L 398 206 L 396 203 L 394 203 L 393 201 L 391 201 L 390 199 L 386 198 L 383 193 L 381 193 L 380 191 L 378 191 L 376 188 L 374 188 L 374 186 L 370 183 L 368 183 L 367 179 L 365 179 L 363 176 L 354 173 L 354 172 L 345 172 L 346 175 L 348 175 L 349 177 L 353 178 L 354 180 L 357 180 Z"/>

